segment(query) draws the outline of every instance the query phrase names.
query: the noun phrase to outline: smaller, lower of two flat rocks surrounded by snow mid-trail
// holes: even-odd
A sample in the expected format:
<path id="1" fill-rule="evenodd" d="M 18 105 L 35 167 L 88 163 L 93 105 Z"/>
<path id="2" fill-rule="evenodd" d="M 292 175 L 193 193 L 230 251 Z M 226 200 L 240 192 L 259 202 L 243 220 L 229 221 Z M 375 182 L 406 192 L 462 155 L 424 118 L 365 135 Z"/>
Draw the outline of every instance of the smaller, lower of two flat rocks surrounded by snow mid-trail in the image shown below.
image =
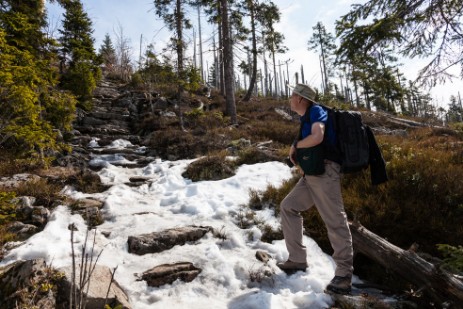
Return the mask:
<path id="1" fill-rule="evenodd" d="M 163 264 L 156 266 L 143 273 L 140 280 L 145 280 L 148 286 L 159 287 L 164 284 L 171 284 L 179 279 L 184 282 L 193 281 L 200 273 L 201 269 L 189 262 L 175 264 Z"/>

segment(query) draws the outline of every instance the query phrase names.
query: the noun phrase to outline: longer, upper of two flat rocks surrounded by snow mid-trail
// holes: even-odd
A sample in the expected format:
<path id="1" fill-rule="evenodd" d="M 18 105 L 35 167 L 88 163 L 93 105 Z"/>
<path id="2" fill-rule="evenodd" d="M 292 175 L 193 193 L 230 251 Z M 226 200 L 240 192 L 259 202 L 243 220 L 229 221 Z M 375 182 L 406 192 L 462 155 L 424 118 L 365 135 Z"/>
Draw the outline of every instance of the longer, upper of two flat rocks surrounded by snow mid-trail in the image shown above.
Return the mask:
<path id="1" fill-rule="evenodd" d="M 129 252 L 138 255 L 162 252 L 175 245 L 184 245 L 187 241 L 196 241 L 209 231 L 212 231 L 210 226 L 186 226 L 151 234 L 129 236 Z"/>

